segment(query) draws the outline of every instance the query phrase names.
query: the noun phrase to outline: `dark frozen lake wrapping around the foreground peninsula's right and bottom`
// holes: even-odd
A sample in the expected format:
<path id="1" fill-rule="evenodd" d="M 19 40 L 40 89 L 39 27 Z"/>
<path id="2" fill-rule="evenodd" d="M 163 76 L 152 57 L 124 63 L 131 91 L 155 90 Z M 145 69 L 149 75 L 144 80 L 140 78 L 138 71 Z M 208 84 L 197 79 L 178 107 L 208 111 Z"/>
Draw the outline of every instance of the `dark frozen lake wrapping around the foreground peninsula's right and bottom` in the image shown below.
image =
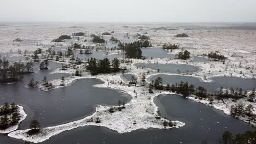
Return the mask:
<path id="1" fill-rule="evenodd" d="M 154 99 L 163 117 L 185 122 L 178 129 L 146 129 L 118 134 L 104 127 L 88 126 L 65 131 L 42 143 L 192 143 L 202 140 L 218 143 L 225 130 L 233 134 L 255 130 L 249 124 L 225 115 L 222 111 L 184 99 L 180 95 L 159 95 Z M 97 137 L 97 139 L 95 138 Z M 22 143 L 0 135 L 0 142 Z"/>

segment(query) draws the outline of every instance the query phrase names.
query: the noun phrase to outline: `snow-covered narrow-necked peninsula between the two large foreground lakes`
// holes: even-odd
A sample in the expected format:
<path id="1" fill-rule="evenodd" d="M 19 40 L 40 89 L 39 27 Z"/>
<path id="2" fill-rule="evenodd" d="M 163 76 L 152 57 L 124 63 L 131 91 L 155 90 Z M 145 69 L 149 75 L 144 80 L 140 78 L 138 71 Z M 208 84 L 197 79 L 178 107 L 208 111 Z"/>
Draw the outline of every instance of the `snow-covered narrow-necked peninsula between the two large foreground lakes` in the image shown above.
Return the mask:
<path id="1" fill-rule="evenodd" d="M 156 119 L 155 118 L 155 113 L 157 110 L 157 107 L 155 104 L 153 104 L 152 106 L 152 111 L 153 113 L 147 113 L 147 115 L 145 117 L 140 117 L 141 113 L 145 113 L 144 111 L 142 111 L 142 109 L 146 109 L 147 107 L 144 107 L 141 104 L 137 104 L 137 103 L 141 103 L 141 100 L 143 99 L 148 99 L 145 97 L 137 97 L 137 94 L 140 95 L 144 95 L 143 92 L 146 91 L 147 88 L 145 87 L 128 87 L 126 85 L 119 85 L 119 83 L 115 82 L 110 82 L 112 85 L 109 85 L 108 79 L 110 79 L 112 77 L 111 80 L 120 80 L 120 75 L 97 75 L 97 77 L 95 76 L 84 76 L 84 77 L 76 77 L 74 79 L 83 79 L 83 78 L 97 78 L 99 79 L 99 77 L 101 77 L 101 80 L 104 81 L 105 83 L 100 84 L 100 85 L 95 85 L 95 87 L 107 87 L 107 88 L 112 88 L 112 89 L 125 89 L 124 91 L 127 94 L 130 94 L 132 96 L 132 100 L 125 104 L 125 109 L 123 109 L 121 112 L 123 113 L 122 115 L 127 115 L 125 117 L 123 117 L 123 119 L 120 119 L 120 114 L 119 112 L 114 112 L 114 113 L 110 113 L 109 114 L 109 109 L 110 107 L 108 106 L 102 106 L 102 105 L 98 105 L 96 106 L 96 112 L 93 113 L 91 116 L 85 117 L 84 119 L 80 119 L 78 121 L 74 121 L 74 122 L 70 122 L 70 123 L 66 123 L 66 124 L 62 124 L 62 125 L 56 125 L 54 127 L 46 127 L 43 128 L 42 130 L 44 130 L 45 135 L 40 135 L 38 134 L 36 137 L 27 137 L 26 132 L 29 130 L 18 130 L 18 131 L 14 131 L 13 133 L 8 134 L 8 136 L 10 137 L 14 137 L 16 139 L 23 139 L 26 141 L 30 141 L 30 142 L 42 142 L 45 140 L 48 140 L 51 136 L 55 136 L 57 134 L 62 133 L 62 131 L 66 131 L 66 130 L 71 130 L 71 129 L 75 129 L 78 127 L 84 127 L 87 125 L 98 125 L 98 126 L 103 126 L 103 127 L 107 127 L 109 129 L 118 131 L 118 133 L 129 133 L 133 130 L 138 130 L 138 129 L 148 129 L 148 128 L 158 128 L 158 129 L 171 129 L 171 128 L 179 128 L 179 127 L 183 127 L 185 125 L 185 123 L 179 122 L 179 121 L 172 121 L 174 123 L 176 123 L 176 125 L 174 126 L 169 126 L 167 125 L 166 127 L 162 124 L 163 121 L 167 121 L 170 122 L 168 119 L 164 119 L 161 118 L 160 119 Z M 107 78 L 106 78 L 107 77 Z M 107 80 L 106 80 L 107 79 Z M 60 81 L 60 80 L 59 80 Z M 73 80 L 72 80 L 73 81 Z M 136 89 L 136 93 L 133 91 Z M 139 92 L 139 93 L 137 93 Z M 160 92 L 162 93 L 162 92 Z M 149 101 L 152 101 L 153 98 L 158 95 L 158 93 L 154 93 L 153 95 L 151 95 L 152 99 L 148 99 Z M 149 96 L 150 97 L 150 96 Z M 138 98 L 138 100 L 134 99 L 134 98 Z M 147 102 L 147 101 L 146 101 Z M 144 102 L 144 103 L 146 103 Z M 119 106 L 120 107 L 120 106 Z M 129 108 L 128 108 L 129 107 Z M 125 112 L 123 112 L 125 111 Z M 151 111 L 151 110 L 150 110 Z M 138 113 L 137 113 L 138 112 Z M 116 114 L 117 113 L 117 114 Z M 115 116 L 113 116 L 113 114 Z M 109 117 L 109 115 L 111 115 Z M 129 119 L 129 117 L 133 116 L 133 121 L 136 120 L 138 124 L 132 124 L 131 120 Z M 95 122 L 91 122 L 91 118 L 96 118 L 96 117 L 100 117 L 100 118 L 104 118 L 103 123 L 95 123 Z M 109 117 L 109 118 L 105 118 L 105 117 Z M 112 121 L 111 121 L 112 119 Z M 149 121 L 149 119 L 151 119 L 151 121 Z M 114 121 L 113 121 L 114 120 Z M 120 121 L 122 121 L 122 123 L 120 123 Z M 109 123 L 111 123 L 111 125 L 109 125 Z M 114 124 L 112 124 L 114 123 Z M 116 125 L 120 125 L 120 126 L 116 126 Z M 51 131 L 51 132 L 50 132 Z"/>

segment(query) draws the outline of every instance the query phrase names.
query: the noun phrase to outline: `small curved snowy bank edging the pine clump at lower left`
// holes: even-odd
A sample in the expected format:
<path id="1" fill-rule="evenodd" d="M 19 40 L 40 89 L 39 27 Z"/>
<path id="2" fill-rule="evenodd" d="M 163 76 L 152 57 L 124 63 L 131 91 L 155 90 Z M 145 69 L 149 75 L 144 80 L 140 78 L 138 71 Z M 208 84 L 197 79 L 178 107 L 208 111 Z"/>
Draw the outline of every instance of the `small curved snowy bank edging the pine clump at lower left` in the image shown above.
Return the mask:
<path id="1" fill-rule="evenodd" d="M 14 131 L 16 129 L 18 129 L 19 127 L 19 124 L 27 117 L 27 114 L 26 112 L 24 111 L 23 107 L 22 106 L 19 106 L 18 105 L 18 113 L 20 114 L 20 120 L 19 122 L 16 124 L 16 125 L 13 125 L 5 130 L 0 130 L 0 134 L 8 134 L 10 133 L 11 131 Z"/>

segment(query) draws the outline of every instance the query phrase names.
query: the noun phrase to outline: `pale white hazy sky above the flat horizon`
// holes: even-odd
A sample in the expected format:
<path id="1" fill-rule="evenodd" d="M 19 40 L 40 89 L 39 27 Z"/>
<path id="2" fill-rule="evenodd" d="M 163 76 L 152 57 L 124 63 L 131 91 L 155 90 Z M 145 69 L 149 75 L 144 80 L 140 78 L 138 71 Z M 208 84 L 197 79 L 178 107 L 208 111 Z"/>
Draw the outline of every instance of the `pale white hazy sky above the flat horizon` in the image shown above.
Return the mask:
<path id="1" fill-rule="evenodd" d="M 1 0 L 0 21 L 256 22 L 256 0 Z"/>

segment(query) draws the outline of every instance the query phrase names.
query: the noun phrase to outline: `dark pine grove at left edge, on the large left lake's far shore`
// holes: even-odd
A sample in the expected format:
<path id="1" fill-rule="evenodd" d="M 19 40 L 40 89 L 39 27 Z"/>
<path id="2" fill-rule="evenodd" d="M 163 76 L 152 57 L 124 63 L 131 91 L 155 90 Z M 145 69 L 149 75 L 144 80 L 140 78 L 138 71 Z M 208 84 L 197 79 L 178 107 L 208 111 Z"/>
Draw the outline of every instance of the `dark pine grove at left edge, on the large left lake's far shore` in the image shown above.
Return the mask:
<path id="1" fill-rule="evenodd" d="M 0 83 L 17 82 L 24 74 L 33 73 L 34 63 L 32 61 L 26 64 L 22 62 L 15 62 L 13 65 L 9 61 L 2 61 L 0 59 Z"/>

